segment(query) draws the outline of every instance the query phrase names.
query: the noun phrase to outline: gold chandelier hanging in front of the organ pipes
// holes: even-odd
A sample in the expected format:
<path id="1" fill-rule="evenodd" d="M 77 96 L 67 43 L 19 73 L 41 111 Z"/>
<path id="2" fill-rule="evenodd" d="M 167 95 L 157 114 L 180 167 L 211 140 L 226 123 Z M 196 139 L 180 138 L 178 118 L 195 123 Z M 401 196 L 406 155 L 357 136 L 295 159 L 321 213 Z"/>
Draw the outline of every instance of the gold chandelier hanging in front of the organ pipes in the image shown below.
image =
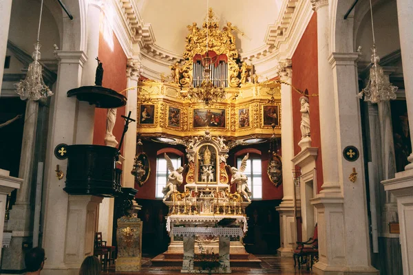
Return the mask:
<path id="1" fill-rule="evenodd" d="M 209 5 L 207 1 L 207 52 L 205 57 L 202 58 L 202 65 L 204 66 L 204 79 L 202 83 L 196 87 L 189 87 L 188 91 L 184 92 L 189 99 L 202 102 L 205 106 L 211 106 L 216 102 L 225 100 L 225 89 L 224 81 L 222 79 L 212 79 L 210 76 L 211 69 L 210 65 L 213 65 L 211 58 L 208 55 L 208 44 L 209 44 L 209 16 L 208 16 Z M 213 83 L 220 83 L 221 87 L 215 87 Z"/>

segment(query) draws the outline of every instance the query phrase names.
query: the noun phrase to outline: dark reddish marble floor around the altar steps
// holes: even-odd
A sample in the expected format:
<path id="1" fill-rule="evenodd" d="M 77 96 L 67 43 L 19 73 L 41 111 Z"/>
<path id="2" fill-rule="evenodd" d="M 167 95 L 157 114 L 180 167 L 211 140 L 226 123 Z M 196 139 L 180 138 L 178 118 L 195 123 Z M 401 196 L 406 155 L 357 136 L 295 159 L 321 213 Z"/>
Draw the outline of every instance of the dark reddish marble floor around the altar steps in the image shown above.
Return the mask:
<path id="1" fill-rule="evenodd" d="M 255 268 L 248 268 L 248 267 L 231 267 L 232 274 L 311 274 L 310 271 L 306 270 L 299 270 L 298 267 L 294 268 L 294 261 L 293 258 L 281 258 L 277 256 L 271 255 L 255 255 L 262 261 L 261 269 Z M 132 274 L 181 274 L 180 267 L 152 267 L 151 266 L 151 258 L 144 257 L 142 258 L 142 270 L 141 272 L 135 273 L 125 273 L 125 272 L 115 272 L 115 267 L 112 265 L 109 267 L 109 270 L 102 272 L 102 274 L 123 274 L 123 275 L 132 275 Z"/>

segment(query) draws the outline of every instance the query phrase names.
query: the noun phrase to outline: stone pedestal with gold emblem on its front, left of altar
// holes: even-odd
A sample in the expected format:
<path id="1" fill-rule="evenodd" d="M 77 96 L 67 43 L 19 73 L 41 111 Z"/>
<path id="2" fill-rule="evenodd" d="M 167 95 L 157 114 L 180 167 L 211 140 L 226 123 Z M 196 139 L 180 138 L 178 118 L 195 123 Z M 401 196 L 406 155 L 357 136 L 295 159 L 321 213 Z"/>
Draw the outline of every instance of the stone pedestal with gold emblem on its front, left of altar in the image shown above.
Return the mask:
<path id="1" fill-rule="evenodd" d="M 139 272 L 142 259 L 142 221 L 137 217 L 118 219 L 116 272 Z"/>

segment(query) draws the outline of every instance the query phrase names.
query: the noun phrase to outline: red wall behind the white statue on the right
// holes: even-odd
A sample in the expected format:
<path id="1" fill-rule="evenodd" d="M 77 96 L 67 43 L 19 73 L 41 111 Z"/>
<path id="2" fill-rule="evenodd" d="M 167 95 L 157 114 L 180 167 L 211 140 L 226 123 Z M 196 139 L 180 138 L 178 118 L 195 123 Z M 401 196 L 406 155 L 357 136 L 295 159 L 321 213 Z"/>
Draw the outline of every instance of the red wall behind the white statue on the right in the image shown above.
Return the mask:
<path id="1" fill-rule="evenodd" d="M 318 67 L 317 67 L 317 14 L 307 25 L 297 49 L 293 54 L 293 80 L 294 87 L 301 91 L 308 89 L 308 94 L 318 94 Z M 297 155 L 301 151 L 298 146 L 301 140 L 301 131 L 299 124 L 301 122 L 301 113 L 299 112 L 299 98 L 301 94 L 293 91 L 293 135 L 294 135 L 294 153 Z M 320 120 L 319 120 L 319 98 L 310 96 L 310 126 L 311 126 L 311 146 L 318 147 L 318 157 L 316 159 L 317 167 L 317 187 L 319 192 L 323 184 L 323 167 L 321 164 L 321 139 L 320 139 Z"/>

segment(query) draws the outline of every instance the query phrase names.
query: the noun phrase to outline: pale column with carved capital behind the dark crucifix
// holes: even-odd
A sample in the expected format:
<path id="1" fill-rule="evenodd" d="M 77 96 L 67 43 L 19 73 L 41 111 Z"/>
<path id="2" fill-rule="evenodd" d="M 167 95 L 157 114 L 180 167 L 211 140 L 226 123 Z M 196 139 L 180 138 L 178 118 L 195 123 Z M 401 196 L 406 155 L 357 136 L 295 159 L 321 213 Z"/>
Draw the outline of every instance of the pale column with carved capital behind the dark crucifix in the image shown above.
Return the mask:
<path id="1" fill-rule="evenodd" d="M 138 79 L 140 76 L 140 62 L 136 59 L 129 59 L 127 61 L 127 88 L 137 87 Z M 131 111 L 131 118 L 138 120 L 138 88 L 130 89 L 127 91 L 127 103 L 125 108 L 125 115 Z M 125 160 L 123 161 L 123 175 L 122 186 L 128 188 L 135 187 L 135 177 L 131 174 L 131 170 L 134 168 L 134 159 L 136 155 L 136 122 L 129 124 L 129 129 L 125 133 L 123 148 L 127 150 L 123 151 Z"/>

